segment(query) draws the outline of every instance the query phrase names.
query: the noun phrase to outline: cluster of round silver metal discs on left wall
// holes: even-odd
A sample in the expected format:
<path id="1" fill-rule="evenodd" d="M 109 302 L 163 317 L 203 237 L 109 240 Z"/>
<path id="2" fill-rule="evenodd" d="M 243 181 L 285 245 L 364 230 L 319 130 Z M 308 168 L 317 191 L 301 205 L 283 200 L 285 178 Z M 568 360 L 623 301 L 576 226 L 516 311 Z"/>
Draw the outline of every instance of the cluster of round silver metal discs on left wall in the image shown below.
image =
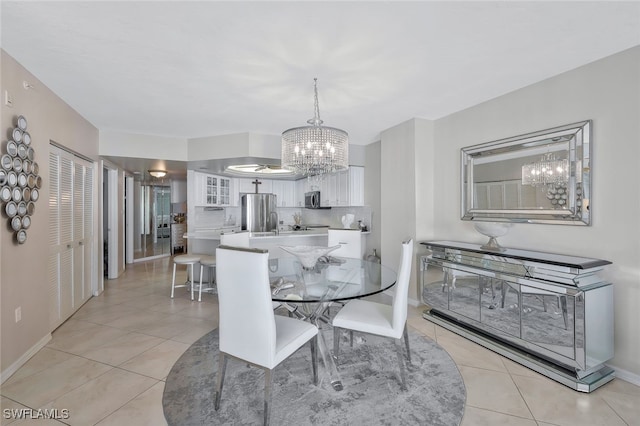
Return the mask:
<path id="1" fill-rule="evenodd" d="M 0 201 L 9 229 L 14 232 L 18 244 L 24 244 L 42 177 L 38 174 L 38 163 L 34 161 L 35 151 L 31 135 L 27 132 L 27 119 L 18 116 L 16 126 L 8 134 L 11 140 L 3 144 L 4 153 L 0 157 Z"/>

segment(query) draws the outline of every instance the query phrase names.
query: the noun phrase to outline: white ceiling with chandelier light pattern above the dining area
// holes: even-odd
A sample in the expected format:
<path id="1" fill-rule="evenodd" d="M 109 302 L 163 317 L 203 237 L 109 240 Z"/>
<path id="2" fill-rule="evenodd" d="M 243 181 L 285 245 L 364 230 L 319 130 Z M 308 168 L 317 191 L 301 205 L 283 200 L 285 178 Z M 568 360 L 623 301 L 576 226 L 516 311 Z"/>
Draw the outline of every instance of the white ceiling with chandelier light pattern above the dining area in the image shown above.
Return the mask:
<path id="1" fill-rule="evenodd" d="M 1 2 L 2 48 L 99 129 L 350 142 L 640 44 L 638 2 Z"/>

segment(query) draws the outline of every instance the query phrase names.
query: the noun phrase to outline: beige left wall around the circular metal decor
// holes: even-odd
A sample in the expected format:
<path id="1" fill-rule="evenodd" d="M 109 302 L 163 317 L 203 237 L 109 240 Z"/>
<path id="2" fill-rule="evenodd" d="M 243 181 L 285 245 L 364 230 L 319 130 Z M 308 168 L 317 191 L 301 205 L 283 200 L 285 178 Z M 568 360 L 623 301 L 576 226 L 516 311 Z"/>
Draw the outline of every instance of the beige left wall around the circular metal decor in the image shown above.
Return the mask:
<path id="1" fill-rule="evenodd" d="M 35 149 L 35 161 L 40 166 L 43 187 L 36 203 L 27 241 L 14 242 L 13 233 L 7 231 L 6 218 L 0 229 L 0 368 L 2 380 L 12 372 L 17 362 L 28 356 L 49 337 L 49 294 L 47 258 L 49 254 L 49 141 L 96 159 L 98 131 L 78 115 L 44 84 L 18 64 L 4 51 L 1 52 L 1 127 L 6 140 L 14 127 L 15 118 L 24 115 Z M 33 88 L 25 89 L 23 82 Z M 13 98 L 13 108 L 4 105 L 4 92 Z M 4 148 L 3 148 L 4 152 Z M 99 176 L 99 175 L 98 175 Z M 16 323 L 14 312 L 22 309 L 22 320 Z"/>

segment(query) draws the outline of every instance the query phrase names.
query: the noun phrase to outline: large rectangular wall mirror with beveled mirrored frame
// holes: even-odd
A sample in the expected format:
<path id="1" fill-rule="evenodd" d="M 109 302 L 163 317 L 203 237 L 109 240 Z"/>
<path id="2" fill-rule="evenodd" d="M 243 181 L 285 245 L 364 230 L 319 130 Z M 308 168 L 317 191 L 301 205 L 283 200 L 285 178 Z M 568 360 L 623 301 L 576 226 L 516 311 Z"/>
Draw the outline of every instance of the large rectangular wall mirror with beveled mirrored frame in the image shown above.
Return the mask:
<path id="1" fill-rule="evenodd" d="M 462 148 L 462 220 L 589 225 L 591 120 Z"/>

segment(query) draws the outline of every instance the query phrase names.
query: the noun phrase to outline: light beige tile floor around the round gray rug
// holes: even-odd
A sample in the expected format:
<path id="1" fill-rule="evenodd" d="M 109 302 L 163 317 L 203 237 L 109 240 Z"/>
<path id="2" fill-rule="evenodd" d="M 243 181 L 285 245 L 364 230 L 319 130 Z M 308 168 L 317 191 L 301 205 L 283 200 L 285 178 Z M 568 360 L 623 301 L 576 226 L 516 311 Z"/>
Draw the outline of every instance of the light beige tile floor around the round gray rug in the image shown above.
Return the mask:
<path id="1" fill-rule="evenodd" d="M 217 327 L 215 295 L 175 299 L 170 259 L 128 265 L 53 333 L 49 344 L 0 389 L 1 425 L 163 425 L 164 380 L 180 355 Z M 178 274 L 184 281 L 186 272 Z M 573 391 L 421 317 L 409 326 L 435 339 L 467 389 L 462 426 L 640 425 L 640 387 L 616 379 L 590 394 Z M 13 420 L 4 409 L 67 409 L 56 420 Z M 60 413 L 62 415 L 62 413 Z M 357 424 L 354 419 L 353 424 Z"/>

